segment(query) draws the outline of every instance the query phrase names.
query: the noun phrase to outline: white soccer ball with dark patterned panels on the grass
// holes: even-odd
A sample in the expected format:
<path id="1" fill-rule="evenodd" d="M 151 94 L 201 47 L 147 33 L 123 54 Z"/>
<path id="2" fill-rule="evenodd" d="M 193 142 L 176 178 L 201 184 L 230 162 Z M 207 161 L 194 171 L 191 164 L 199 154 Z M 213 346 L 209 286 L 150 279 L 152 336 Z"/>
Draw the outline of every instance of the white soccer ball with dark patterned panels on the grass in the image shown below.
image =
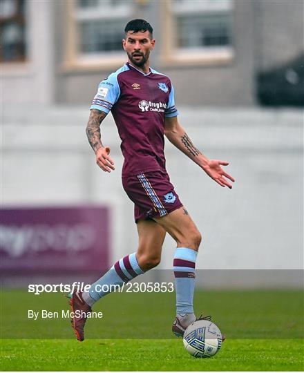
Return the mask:
<path id="1" fill-rule="evenodd" d="M 222 345 L 222 333 L 216 324 L 208 320 L 198 320 L 189 325 L 183 337 L 185 349 L 195 357 L 211 357 Z"/>

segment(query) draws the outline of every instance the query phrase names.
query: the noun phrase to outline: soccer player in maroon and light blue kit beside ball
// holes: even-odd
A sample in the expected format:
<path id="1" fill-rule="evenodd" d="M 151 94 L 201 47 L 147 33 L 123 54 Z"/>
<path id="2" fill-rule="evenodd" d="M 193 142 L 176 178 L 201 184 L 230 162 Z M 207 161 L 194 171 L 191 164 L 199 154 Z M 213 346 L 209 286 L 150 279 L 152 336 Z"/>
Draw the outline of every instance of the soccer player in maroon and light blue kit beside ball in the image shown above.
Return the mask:
<path id="1" fill-rule="evenodd" d="M 115 262 L 89 291 L 74 291 L 70 306 L 73 312 L 81 310 L 82 314 L 87 314 L 97 300 L 108 294 L 99 291 L 103 285 L 108 285 L 104 287 L 108 289 L 110 285 L 122 285 L 157 266 L 168 232 L 177 245 L 173 258 L 176 317 L 172 331 L 182 336 L 187 326 L 196 320 L 193 292 L 201 236 L 167 174 L 164 135 L 221 187 L 231 189 L 229 180 L 234 182 L 234 178 L 221 167 L 228 162 L 209 160 L 200 153 L 178 122 L 171 80 L 149 66 L 150 52 L 155 47 L 151 25 L 143 19 L 133 19 L 124 32 L 122 46 L 128 61 L 99 84 L 86 135 L 97 165 L 104 172 L 113 171 L 110 148 L 102 144 L 100 136 L 100 124 L 108 112 L 112 112 L 122 140 L 122 185 L 134 202 L 139 244 L 135 253 Z M 85 322 L 85 316 L 72 319 L 79 341 L 84 340 Z"/>

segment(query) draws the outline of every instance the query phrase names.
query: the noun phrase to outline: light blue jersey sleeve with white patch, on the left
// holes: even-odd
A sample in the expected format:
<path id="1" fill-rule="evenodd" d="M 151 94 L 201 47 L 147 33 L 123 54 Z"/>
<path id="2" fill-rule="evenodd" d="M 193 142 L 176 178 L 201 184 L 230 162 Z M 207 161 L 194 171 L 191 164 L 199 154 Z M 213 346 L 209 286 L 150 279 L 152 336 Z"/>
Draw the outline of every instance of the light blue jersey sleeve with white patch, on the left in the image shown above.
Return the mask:
<path id="1" fill-rule="evenodd" d="M 108 113 L 120 97 L 120 86 L 117 82 L 117 74 L 112 73 L 99 83 L 97 93 L 90 109 L 97 109 Z"/>

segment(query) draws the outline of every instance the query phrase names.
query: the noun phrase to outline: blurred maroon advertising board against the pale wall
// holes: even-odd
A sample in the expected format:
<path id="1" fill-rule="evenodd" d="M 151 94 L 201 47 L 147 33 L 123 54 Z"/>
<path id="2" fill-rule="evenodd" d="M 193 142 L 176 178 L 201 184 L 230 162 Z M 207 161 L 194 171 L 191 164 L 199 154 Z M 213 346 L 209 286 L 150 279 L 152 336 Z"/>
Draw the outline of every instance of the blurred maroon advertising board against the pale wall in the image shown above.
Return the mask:
<path id="1" fill-rule="evenodd" d="M 107 207 L 1 209 L 0 269 L 103 271 L 109 261 Z"/>

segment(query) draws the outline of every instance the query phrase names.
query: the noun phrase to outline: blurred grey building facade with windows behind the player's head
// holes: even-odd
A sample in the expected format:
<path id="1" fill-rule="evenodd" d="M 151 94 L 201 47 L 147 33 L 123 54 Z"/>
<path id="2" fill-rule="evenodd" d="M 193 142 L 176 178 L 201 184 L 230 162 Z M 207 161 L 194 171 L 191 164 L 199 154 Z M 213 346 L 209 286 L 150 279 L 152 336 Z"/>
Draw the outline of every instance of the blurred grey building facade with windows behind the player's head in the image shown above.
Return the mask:
<path id="1" fill-rule="evenodd" d="M 133 18 L 179 105 L 254 106 L 256 75 L 303 53 L 301 0 L 2 0 L 3 104 L 90 104 Z"/>

